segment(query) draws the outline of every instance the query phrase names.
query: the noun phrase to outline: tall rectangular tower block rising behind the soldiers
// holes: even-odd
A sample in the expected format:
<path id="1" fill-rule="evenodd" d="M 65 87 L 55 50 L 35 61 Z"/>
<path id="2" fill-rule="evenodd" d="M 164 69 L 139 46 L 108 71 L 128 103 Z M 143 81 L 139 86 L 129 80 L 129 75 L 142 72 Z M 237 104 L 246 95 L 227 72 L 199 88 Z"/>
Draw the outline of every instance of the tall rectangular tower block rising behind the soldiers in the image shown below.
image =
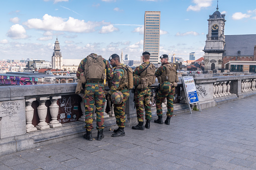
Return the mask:
<path id="1" fill-rule="evenodd" d="M 146 11 L 144 16 L 143 51 L 150 53 L 150 62 L 157 65 L 159 60 L 160 11 Z"/>

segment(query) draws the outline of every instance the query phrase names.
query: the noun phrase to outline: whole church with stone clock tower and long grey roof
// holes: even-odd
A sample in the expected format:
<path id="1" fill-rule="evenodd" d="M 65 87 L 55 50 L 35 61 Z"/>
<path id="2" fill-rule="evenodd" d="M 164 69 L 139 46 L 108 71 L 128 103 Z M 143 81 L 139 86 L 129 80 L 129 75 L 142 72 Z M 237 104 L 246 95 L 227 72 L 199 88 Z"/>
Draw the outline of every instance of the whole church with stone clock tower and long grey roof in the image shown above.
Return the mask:
<path id="1" fill-rule="evenodd" d="M 218 6 L 207 21 L 205 70 L 255 72 L 256 35 L 224 35 L 225 14 L 219 12 Z"/>

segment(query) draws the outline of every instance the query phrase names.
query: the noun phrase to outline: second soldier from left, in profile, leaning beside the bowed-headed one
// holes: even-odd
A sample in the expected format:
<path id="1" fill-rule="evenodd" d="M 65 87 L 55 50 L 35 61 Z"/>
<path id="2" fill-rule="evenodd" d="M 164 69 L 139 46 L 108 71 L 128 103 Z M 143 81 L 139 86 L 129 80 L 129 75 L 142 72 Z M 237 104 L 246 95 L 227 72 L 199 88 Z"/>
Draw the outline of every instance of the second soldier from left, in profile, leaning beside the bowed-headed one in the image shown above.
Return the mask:
<path id="1" fill-rule="evenodd" d="M 108 91 L 108 94 L 111 95 L 115 91 L 121 91 L 123 93 L 123 101 L 121 104 L 114 104 L 114 113 L 116 117 L 116 122 L 118 129 L 114 130 L 112 137 L 124 136 L 124 127 L 125 127 L 125 103 L 129 97 L 129 90 L 126 86 L 123 86 L 127 80 L 124 80 L 125 74 L 127 71 L 124 69 L 125 65 L 120 63 L 120 57 L 117 54 L 113 54 L 109 58 L 110 64 L 112 67 L 115 67 L 113 71 L 113 80 L 111 83 L 111 88 Z M 127 76 L 126 76 L 127 77 Z"/>

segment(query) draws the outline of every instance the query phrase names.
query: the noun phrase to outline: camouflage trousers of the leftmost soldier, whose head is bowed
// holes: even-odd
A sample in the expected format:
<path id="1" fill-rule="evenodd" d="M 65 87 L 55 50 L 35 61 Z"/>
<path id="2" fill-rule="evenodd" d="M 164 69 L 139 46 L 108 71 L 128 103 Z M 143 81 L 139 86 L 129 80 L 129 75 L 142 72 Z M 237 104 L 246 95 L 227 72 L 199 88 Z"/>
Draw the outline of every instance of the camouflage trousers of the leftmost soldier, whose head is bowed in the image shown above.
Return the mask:
<path id="1" fill-rule="evenodd" d="M 93 109 L 96 107 L 97 129 L 104 129 L 104 86 L 100 84 L 88 83 L 84 88 L 84 107 L 86 108 L 86 128 L 91 131 L 93 127 Z"/>

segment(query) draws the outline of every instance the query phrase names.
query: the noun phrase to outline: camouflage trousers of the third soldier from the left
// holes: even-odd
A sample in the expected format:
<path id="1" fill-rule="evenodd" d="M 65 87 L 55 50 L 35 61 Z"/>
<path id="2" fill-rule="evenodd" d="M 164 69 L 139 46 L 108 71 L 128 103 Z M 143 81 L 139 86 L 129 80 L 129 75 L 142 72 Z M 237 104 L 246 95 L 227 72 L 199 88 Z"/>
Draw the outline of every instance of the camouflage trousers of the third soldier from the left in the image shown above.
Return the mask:
<path id="1" fill-rule="evenodd" d="M 145 108 L 145 119 L 151 120 L 151 105 L 150 105 L 151 89 L 147 87 L 145 90 L 136 89 L 135 92 L 135 106 L 138 121 L 144 120 L 143 105 Z"/>

